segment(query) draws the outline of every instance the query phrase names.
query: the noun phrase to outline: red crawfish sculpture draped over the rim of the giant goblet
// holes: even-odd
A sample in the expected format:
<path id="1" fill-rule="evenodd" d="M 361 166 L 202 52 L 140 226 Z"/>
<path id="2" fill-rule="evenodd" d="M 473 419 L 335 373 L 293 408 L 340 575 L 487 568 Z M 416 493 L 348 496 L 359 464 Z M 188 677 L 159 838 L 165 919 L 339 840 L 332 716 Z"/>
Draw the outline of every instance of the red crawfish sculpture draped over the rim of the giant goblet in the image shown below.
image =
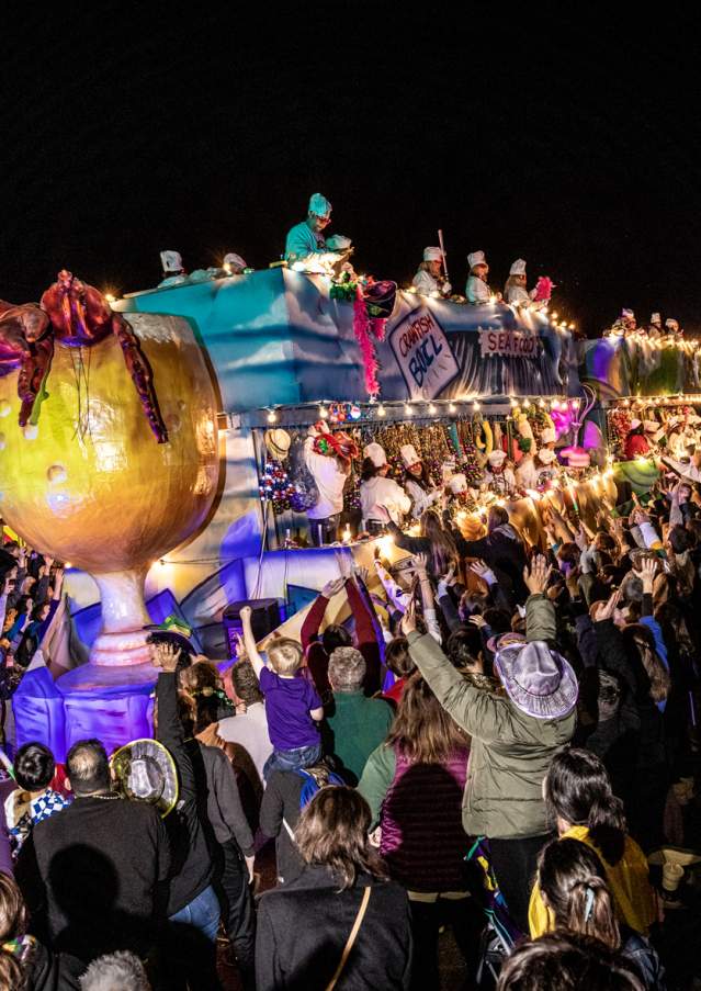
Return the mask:
<path id="1" fill-rule="evenodd" d="M 38 306 L 13 306 L 0 300 L 0 376 L 20 369 L 18 395 L 22 402 L 20 426 L 30 421 L 37 397 L 49 373 L 55 345 L 91 348 L 114 334 L 149 426 L 158 441 L 168 441 L 151 367 L 131 325 L 92 285 L 65 269 L 42 296 Z"/>

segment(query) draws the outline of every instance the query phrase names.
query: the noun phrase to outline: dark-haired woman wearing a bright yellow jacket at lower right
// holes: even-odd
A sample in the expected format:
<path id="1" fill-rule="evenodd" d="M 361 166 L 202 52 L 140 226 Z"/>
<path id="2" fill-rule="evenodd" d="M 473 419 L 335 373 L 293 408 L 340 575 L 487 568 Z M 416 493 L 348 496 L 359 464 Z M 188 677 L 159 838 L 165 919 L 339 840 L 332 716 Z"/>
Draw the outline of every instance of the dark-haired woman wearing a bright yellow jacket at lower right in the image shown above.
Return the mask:
<path id="1" fill-rule="evenodd" d="M 647 860 L 626 835 L 623 803 L 611 791 L 601 761 L 585 750 L 557 754 L 543 782 L 543 796 L 559 838 L 586 843 L 600 856 L 619 920 L 646 935 L 657 914 Z M 553 927 L 538 885 L 531 893 L 529 926 L 531 936 Z"/>

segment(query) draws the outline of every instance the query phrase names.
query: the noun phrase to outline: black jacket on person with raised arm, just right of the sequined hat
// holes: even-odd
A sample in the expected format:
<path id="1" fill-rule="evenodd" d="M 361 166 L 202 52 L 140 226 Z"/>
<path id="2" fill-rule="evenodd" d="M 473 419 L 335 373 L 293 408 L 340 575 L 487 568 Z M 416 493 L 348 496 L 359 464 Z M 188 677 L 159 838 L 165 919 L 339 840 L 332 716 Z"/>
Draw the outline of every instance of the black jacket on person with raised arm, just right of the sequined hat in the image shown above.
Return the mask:
<path id="1" fill-rule="evenodd" d="M 158 730 L 156 739 L 172 754 L 180 793 L 176 809 L 166 817 L 172 849 L 168 915 L 174 915 L 201 894 L 212 880 L 212 858 L 200 817 L 206 817 L 206 770 L 197 743 L 185 744 L 178 716 L 176 675 L 161 672 L 156 684 Z M 200 788 L 197 788 L 197 781 Z M 50 822 L 50 820 L 49 820 Z"/>

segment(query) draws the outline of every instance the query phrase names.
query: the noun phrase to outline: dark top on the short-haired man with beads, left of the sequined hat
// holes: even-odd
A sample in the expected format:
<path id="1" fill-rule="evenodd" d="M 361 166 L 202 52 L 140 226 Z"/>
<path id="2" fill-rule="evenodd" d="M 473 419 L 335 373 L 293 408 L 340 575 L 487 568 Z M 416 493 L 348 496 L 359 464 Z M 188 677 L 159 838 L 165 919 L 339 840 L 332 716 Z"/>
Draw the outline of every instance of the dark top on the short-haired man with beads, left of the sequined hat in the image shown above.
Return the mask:
<path id="1" fill-rule="evenodd" d="M 147 950 L 162 917 L 170 849 L 158 812 L 115 795 L 77 798 L 36 824 L 16 878 L 31 932 L 90 961 L 115 949 Z"/>

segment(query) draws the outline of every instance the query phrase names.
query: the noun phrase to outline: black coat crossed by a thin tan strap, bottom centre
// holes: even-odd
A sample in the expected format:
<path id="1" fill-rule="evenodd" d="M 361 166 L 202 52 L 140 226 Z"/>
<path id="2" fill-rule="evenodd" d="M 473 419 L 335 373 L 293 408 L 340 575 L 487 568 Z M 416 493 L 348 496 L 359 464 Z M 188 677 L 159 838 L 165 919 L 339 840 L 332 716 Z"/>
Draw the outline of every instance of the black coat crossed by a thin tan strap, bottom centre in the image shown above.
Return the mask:
<path id="1" fill-rule="evenodd" d="M 339 891 L 327 868 L 307 867 L 296 881 L 260 900 L 258 991 L 324 991 L 341 960 L 368 886 L 365 916 L 337 991 L 408 989 L 411 923 L 404 888 L 361 875 L 352 888 Z"/>

